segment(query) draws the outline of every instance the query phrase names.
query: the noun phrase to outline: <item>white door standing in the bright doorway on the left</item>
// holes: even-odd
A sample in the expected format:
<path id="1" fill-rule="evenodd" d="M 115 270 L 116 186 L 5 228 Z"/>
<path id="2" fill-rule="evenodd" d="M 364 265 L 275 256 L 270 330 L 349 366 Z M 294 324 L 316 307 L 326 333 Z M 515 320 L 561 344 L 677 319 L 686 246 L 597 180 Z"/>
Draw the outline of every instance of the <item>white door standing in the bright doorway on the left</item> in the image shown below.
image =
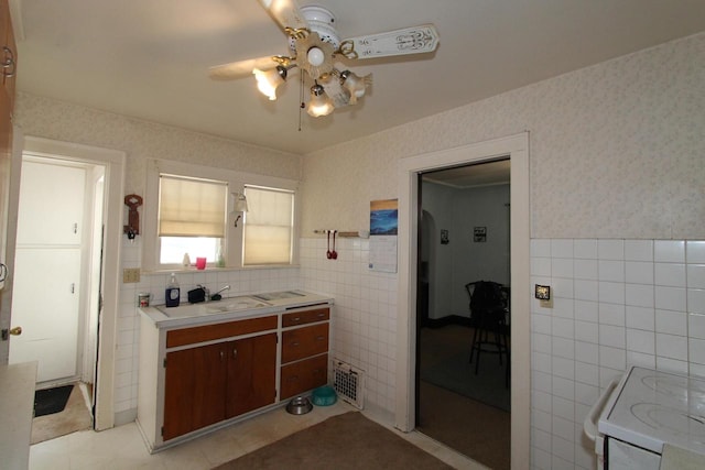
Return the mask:
<path id="1" fill-rule="evenodd" d="M 77 375 L 86 172 L 24 160 L 20 183 L 10 363 L 39 361 L 37 382 Z"/>

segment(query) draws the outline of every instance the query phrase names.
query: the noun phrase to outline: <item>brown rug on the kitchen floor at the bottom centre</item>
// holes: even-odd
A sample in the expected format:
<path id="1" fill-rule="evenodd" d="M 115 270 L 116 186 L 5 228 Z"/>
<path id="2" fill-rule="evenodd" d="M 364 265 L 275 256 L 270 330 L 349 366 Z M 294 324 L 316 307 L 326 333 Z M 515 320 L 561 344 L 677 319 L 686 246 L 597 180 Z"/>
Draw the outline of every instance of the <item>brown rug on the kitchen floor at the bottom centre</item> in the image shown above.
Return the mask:
<path id="1" fill-rule="evenodd" d="M 231 460 L 232 469 L 452 469 L 393 431 L 349 412 Z"/>

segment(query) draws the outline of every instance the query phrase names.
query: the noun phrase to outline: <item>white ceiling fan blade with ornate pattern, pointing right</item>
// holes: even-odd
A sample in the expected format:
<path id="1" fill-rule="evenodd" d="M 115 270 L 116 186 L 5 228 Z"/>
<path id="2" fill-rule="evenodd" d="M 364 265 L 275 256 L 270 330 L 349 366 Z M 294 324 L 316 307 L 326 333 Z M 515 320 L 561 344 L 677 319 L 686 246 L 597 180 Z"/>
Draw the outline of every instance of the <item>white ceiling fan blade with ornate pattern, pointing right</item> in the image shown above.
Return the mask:
<path id="1" fill-rule="evenodd" d="M 433 24 L 421 24 L 347 39 L 340 43 L 340 52 L 348 58 L 373 58 L 422 54 L 433 52 L 437 46 L 436 28 Z"/>

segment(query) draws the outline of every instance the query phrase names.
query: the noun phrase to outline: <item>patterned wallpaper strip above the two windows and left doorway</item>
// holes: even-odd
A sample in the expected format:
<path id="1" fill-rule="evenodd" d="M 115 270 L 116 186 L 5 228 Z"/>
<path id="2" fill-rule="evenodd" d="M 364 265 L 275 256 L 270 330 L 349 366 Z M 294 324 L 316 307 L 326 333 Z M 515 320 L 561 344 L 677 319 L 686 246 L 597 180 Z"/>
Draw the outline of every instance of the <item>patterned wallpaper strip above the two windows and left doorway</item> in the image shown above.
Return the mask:
<path id="1" fill-rule="evenodd" d="M 127 153 L 126 192 L 144 194 L 145 159 L 301 177 L 301 156 L 19 92 L 14 123 L 25 135 Z"/>

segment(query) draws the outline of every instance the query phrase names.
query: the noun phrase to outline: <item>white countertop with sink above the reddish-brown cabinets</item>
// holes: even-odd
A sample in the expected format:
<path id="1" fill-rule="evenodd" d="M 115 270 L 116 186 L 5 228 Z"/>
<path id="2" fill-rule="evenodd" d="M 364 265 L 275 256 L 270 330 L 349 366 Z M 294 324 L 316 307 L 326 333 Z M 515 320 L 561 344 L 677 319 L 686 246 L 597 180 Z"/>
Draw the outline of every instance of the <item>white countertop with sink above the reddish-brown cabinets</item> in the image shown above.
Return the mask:
<path id="1" fill-rule="evenodd" d="M 283 296 L 281 294 L 291 293 L 291 296 Z M 259 296 L 259 297 L 258 297 Z M 261 306 L 252 308 L 242 308 L 234 311 L 218 311 L 218 306 L 228 305 L 228 302 L 232 302 L 238 298 L 253 298 L 259 300 Z M 282 310 L 289 310 L 294 308 L 314 306 L 314 305 L 332 305 L 333 297 L 315 294 L 306 291 L 289 289 L 272 293 L 256 293 L 256 294 L 242 294 L 232 297 L 224 297 L 221 300 L 204 302 L 199 304 L 182 303 L 178 307 L 164 308 L 163 305 L 155 305 L 150 307 L 140 307 L 138 310 L 143 317 L 149 318 L 154 323 L 156 328 L 174 328 L 174 327 L 187 327 L 193 325 L 207 325 L 212 323 L 221 323 L 234 319 L 243 319 L 256 316 L 262 316 L 268 314 L 275 314 Z M 175 311 L 181 307 L 203 306 L 199 308 L 189 308 L 193 313 L 185 315 L 170 316 L 162 311 Z M 204 313 L 205 309 L 213 310 Z"/>

